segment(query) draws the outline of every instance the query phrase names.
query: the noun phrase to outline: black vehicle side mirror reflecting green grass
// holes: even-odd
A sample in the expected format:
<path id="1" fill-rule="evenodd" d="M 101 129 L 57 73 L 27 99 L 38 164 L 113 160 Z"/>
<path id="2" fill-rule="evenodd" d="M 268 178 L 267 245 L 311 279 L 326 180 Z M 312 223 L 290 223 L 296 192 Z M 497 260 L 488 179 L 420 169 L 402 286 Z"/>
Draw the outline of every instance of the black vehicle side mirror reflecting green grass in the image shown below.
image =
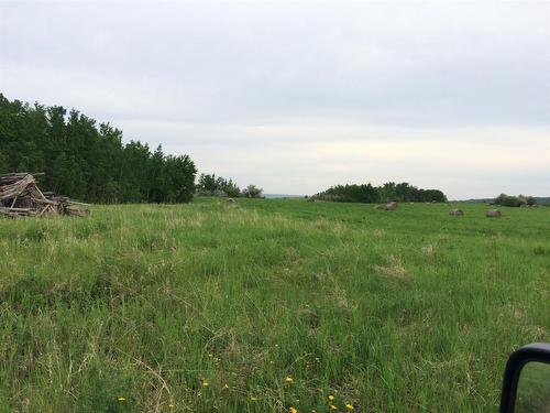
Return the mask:
<path id="1" fill-rule="evenodd" d="M 504 372 L 501 413 L 550 412 L 550 344 L 514 351 Z"/>

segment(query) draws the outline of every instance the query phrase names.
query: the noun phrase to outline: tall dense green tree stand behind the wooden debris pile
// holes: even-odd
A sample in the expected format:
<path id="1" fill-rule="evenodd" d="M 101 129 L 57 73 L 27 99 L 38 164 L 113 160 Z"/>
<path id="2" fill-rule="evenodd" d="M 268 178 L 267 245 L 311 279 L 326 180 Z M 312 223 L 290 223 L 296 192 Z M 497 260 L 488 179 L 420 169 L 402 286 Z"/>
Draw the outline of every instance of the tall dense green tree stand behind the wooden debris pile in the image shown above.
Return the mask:
<path id="1" fill-rule="evenodd" d="M 0 94 L 0 173 L 45 172 L 47 191 L 92 203 L 193 199 L 196 169 L 187 155 L 122 143 L 109 123 L 61 106 L 30 106 Z"/>

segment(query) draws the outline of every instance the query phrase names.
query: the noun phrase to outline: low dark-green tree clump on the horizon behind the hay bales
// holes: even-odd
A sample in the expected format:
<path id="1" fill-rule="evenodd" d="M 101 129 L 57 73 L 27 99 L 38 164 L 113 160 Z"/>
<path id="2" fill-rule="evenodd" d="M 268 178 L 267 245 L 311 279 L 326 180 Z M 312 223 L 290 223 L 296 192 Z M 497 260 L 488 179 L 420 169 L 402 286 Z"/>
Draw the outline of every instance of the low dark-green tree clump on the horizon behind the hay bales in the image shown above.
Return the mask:
<path id="1" fill-rule="evenodd" d="M 371 184 L 363 185 L 337 185 L 327 191 L 314 195 L 312 198 L 321 200 L 332 200 L 341 203 L 386 203 L 389 200 L 399 202 L 437 202 L 446 203 L 447 196 L 439 189 L 419 189 L 406 182 L 396 184 L 385 183 L 382 186 Z"/>

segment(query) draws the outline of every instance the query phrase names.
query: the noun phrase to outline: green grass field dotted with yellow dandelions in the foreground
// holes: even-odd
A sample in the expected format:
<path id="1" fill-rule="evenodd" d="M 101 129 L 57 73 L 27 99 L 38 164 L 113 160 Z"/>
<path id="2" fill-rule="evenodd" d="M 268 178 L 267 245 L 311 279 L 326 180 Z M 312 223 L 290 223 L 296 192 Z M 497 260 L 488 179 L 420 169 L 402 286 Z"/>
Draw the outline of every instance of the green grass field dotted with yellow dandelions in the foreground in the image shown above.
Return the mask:
<path id="1" fill-rule="evenodd" d="M 0 411 L 495 412 L 550 341 L 550 208 L 451 207 L 2 219 Z"/>

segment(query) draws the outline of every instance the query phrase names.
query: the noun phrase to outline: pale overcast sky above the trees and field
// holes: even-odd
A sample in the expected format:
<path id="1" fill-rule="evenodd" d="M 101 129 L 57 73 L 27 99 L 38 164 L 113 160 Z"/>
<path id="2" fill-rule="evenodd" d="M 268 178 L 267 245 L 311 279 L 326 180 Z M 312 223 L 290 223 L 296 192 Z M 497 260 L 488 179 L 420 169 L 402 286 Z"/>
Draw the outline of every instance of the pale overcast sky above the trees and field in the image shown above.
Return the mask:
<path id="1" fill-rule="evenodd" d="M 0 0 L 0 91 L 266 193 L 550 195 L 550 2 Z"/>

